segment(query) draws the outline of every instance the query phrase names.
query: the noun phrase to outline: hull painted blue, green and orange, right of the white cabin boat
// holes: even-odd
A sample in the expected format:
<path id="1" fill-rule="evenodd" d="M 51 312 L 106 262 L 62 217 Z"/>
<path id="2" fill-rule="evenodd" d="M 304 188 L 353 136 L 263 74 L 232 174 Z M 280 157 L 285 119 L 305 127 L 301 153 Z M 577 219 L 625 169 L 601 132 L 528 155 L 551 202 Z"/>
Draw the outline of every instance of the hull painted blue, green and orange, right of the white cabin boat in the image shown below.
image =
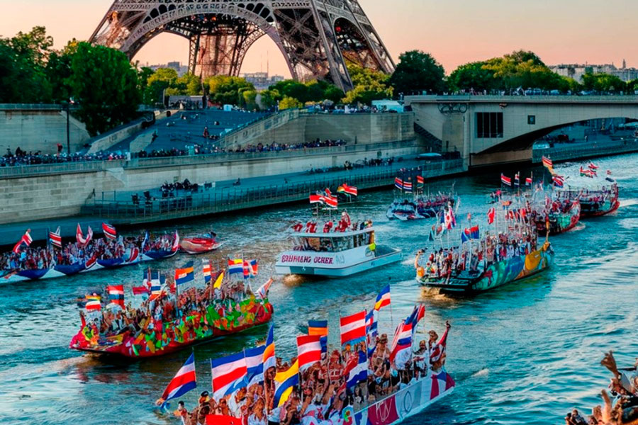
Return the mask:
<path id="1" fill-rule="evenodd" d="M 424 277 L 417 278 L 417 281 L 430 288 L 439 288 L 442 293 L 471 295 L 540 273 L 552 264 L 553 259 L 552 248 L 549 243 L 546 243 L 541 249 L 526 256 L 517 256 L 493 263 L 488 266 L 486 271 L 476 277 L 453 277 L 449 281 L 443 278 L 429 279 Z"/>

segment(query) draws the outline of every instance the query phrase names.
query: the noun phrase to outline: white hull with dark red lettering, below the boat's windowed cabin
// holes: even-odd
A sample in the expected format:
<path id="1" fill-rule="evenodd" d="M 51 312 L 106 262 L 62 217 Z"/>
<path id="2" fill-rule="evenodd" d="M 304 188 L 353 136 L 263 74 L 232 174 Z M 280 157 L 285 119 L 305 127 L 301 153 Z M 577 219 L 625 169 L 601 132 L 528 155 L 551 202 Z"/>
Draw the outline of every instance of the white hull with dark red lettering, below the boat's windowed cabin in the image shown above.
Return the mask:
<path id="1" fill-rule="evenodd" d="M 377 245 L 376 250 L 378 251 L 377 254 L 366 255 L 363 259 L 359 259 L 359 261 L 356 261 L 349 265 L 345 265 L 343 260 L 340 260 L 339 256 L 335 256 L 335 261 L 330 261 L 330 263 L 313 261 L 313 257 L 310 256 L 308 264 L 287 264 L 285 261 L 282 261 L 285 259 L 286 256 L 286 254 L 283 254 L 279 256 L 279 259 L 275 264 L 275 271 L 277 274 L 280 275 L 298 274 L 308 276 L 324 276 L 328 278 L 342 278 L 345 276 L 351 276 L 355 273 L 362 273 L 373 268 L 385 266 L 386 264 L 395 263 L 396 261 L 401 261 L 402 254 L 400 249 L 393 249 L 387 246 Z M 314 258 L 332 259 L 332 257 L 325 256 L 315 256 Z"/>

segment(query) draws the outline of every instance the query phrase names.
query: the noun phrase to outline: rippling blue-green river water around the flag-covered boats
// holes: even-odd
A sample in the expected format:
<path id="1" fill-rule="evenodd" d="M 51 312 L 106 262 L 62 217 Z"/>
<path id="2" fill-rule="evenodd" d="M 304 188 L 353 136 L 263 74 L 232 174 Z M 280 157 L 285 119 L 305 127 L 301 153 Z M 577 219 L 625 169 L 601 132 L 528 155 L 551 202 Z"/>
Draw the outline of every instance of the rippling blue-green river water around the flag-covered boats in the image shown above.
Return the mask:
<path id="1" fill-rule="evenodd" d="M 569 409 L 592 407 L 608 382 L 609 373 L 598 364 L 603 351 L 613 348 L 620 364 L 633 363 L 638 356 L 638 155 L 597 163 L 601 170 L 612 169 L 620 186 L 620 209 L 554 237 L 555 262 L 546 273 L 465 300 L 423 290 L 413 280 L 414 253 L 427 246 L 431 221 L 389 222 L 385 210 L 392 192 L 363 193 L 359 203 L 348 208 L 350 215 L 353 220 L 371 217 L 378 243 L 404 250 L 402 263 L 342 280 L 276 280 L 270 299 L 275 307 L 277 354 L 293 355 L 293 336 L 308 319 L 327 318 L 330 341 L 337 341 L 339 315 L 370 308 L 389 281 L 392 311 L 381 312 L 381 331 L 391 334 L 391 322 L 407 316 L 418 302 L 426 306 L 420 332 L 441 333 L 446 319 L 452 323 L 447 370 L 457 389 L 409 423 L 559 424 Z M 575 173 L 578 164 L 560 167 Z M 472 212 L 474 223 L 485 223 L 484 194 L 497 187 L 499 173 L 455 179 L 461 197 L 459 219 Z M 435 184 L 449 187 L 452 180 Z M 234 254 L 257 256 L 263 279 L 274 271 L 276 254 L 287 246 L 281 232 L 294 219 L 306 219 L 308 212 L 307 205 L 296 204 L 175 225 L 180 234 L 213 227 L 227 241 L 211 254 L 213 262 Z M 171 231 L 175 225 L 152 231 Z M 168 270 L 187 259 L 179 254 L 153 267 Z M 108 283 L 123 282 L 130 291 L 133 283 L 139 284 L 141 273 L 142 266 L 131 266 L 0 287 L 1 424 L 176 423 L 159 414 L 152 403 L 190 349 L 118 363 L 68 348 L 79 328 L 75 299 Z M 187 407 L 194 406 L 198 392 L 211 390 L 211 357 L 240 351 L 262 339 L 266 331 L 261 327 L 196 346 L 198 388 L 184 397 Z M 417 337 L 421 336 L 426 335 Z"/>

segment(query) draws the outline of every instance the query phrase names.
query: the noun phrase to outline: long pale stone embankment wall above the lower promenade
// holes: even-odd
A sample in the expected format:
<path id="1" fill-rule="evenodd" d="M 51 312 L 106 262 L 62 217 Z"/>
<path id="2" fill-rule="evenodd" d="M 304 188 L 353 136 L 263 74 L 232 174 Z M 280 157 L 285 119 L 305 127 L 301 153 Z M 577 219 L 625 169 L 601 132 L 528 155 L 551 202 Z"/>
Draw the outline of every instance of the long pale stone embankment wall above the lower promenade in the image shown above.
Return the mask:
<path id="1" fill-rule="evenodd" d="M 415 141 L 346 145 L 266 154 L 201 155 L 87 162 L 57 167 L 35 166 L 29 175 L 18 167 L 0 169 L 0 223 L 77 215 L 82 205 L 102 192 L 138 192 L 159 188 L 164 181 L 193 183 L 247 179 L 296 173 L 310 168 L 341 166 L 364 158 L 412 155 Z M 55 171 L 52 171 L 55 170 Z"/>

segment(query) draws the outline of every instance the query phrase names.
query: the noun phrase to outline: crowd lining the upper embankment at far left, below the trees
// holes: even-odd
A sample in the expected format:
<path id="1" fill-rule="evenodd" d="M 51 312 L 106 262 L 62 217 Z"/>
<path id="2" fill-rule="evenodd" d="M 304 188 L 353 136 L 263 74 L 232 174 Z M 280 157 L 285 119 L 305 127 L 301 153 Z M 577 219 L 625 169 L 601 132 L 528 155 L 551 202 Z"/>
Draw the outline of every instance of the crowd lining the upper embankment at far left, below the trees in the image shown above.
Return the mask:
<path id="1" fill-rule="evenodd" d="M 62 145 L 59 145 L 62 146 Z M 40 164 L 65 164 L 67 162 L 88 162 L 88 161 L 113 161 L 115 159 L 126 159 L 127 152 L 96 152 L 94 154 L 66 154 L 58 149 L 57 154 L 43 154 L 41 151 L 26 152 L 16 148 L 12 153 L 11 149 L 6 149 L 6 154 L 0 157 L 0 166 L 22 166 Z"/>

